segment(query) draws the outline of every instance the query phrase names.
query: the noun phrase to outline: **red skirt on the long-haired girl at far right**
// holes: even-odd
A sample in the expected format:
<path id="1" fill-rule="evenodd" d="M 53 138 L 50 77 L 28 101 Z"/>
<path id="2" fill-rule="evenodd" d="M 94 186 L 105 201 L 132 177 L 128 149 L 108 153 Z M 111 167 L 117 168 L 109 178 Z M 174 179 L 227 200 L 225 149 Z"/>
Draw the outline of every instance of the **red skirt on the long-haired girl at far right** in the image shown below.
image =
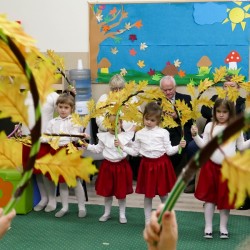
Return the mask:
<path id="1" fill-rule="evenodd" d="M 211 160 L 201 168 L 194 196 L 198 200 L 216 204 L 219 210 L 235 208 L 234 202 L 229 202 L 227 180 L 222 181 L 221 165 Z"/>

